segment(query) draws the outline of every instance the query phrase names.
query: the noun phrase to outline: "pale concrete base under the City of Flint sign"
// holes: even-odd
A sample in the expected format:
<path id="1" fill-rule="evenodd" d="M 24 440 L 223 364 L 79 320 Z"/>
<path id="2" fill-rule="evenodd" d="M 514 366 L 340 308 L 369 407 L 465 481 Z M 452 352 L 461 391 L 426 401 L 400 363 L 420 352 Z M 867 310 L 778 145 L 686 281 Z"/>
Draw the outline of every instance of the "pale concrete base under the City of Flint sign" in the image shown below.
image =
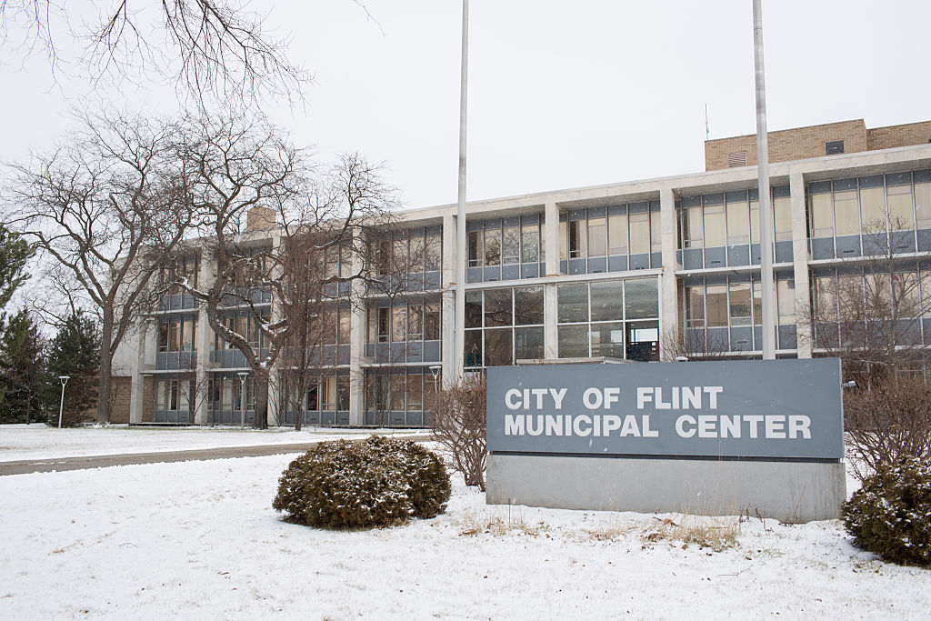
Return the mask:
<path id="1" fill-rule="evenodd" d="M 488 456 L 490 505 L 832 520 L 846 499 L 843 462 Z"/>

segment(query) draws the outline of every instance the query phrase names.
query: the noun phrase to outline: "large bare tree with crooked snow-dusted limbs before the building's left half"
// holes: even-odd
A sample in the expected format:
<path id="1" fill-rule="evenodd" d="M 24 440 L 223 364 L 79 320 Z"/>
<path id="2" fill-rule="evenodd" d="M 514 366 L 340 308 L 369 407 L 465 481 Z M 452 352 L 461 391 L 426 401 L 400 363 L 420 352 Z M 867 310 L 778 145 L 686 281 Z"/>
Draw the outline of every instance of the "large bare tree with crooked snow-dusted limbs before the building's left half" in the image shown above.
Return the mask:
<path id="1" fill-rule="evenodd" d="M 292 240 L 310 240 L 302 251 L 312 261 L 329 249 L 346 249 L 351 256 L 361 249 L 357 229 L 377 223 L 393 206 L 393 195 L 377 167 L 358 155 L 342 157 L 331 172 L 311 183 L 304 152 L 262 118 L 192 118 L 185 133 L 182 159 L 193 171 L 192 192 L 207 240 L 205 260 L 214 262 L 215 273 L 201 288 L 186 281 L 178 284 L 205 305 L 214 333 L 243 354 L 256 382 L 253 426 L 265 428 L 272 370 L 293 330 L 289 318 L 270 314 L 264 301 L 294 299 L 282 277 L 292 261 L 289 247 L 298 248 Z M 276 229 L 280 243 L 270 245 L 276 231 L 251 234 L 250 217 Z M 326 293 L 331 285 L 364 277 L 362 269 L 326 273 L 315 286 Z M 253 338 L 224 321 L 233 306 L 249 315 Z"/>

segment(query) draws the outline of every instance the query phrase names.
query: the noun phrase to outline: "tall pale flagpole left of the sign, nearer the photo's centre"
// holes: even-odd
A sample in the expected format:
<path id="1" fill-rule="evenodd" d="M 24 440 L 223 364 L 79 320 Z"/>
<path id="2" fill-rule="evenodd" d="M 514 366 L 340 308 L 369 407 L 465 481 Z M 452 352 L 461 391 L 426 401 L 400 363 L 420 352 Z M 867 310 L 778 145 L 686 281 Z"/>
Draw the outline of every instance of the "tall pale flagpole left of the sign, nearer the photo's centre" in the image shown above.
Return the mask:
<path id="1" fill-rule="evenodd" d="M 456 209 L 456 295 L 452 381 L 463 376 L 466 357 L 466 104 L 468 93 L 468 0 L 463 0 L 463 48 L 459 85 L 459 205 Z"/>

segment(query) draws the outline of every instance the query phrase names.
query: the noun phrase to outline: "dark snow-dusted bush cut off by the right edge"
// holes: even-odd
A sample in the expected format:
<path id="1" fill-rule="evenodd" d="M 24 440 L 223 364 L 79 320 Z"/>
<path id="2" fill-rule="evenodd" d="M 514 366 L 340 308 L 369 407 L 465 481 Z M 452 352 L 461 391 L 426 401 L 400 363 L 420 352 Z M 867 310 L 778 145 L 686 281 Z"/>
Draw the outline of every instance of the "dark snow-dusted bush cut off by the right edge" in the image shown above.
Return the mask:
<path id="1" fill-rule="evenodd" d="M 931 466 L 914 457 L 880 466 L 843 505 L 843 523 L 857 547 L 931 566 Z"/>

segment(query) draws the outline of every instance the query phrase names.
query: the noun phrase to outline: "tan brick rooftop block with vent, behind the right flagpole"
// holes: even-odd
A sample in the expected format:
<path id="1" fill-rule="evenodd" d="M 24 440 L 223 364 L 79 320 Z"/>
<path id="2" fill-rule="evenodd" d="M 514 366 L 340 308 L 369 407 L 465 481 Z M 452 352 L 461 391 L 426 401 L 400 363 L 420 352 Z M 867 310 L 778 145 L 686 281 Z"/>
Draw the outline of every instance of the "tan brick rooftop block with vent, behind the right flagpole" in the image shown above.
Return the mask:
<path id="1" fill-rule="evenodd" d="M 822 157 L 824 144 L 843 140 L 844 153 L 869 150 L 867 128 L 863 119 L 813 125 L 808 128 L 783 129 L 769 132 L 769 161 L 788 162 L 793 159 Z M 735 136 L 705 142 L 705 169 L 726 169 L 727 155 L 746 152 L 747 166 L 756 166 L 756 134 Z"/>

